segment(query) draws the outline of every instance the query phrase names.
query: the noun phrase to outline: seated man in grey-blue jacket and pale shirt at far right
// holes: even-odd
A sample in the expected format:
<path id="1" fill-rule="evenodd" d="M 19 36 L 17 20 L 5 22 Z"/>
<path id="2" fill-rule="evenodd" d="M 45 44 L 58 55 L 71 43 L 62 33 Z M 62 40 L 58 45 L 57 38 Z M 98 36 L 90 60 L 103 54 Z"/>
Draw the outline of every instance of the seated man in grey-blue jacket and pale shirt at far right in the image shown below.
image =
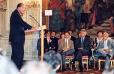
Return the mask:
<path id="1" fill-rule="evenodd" d="M 103 40 L 99 43 L 96 48 L 99 56 L 105 57 L 105 69 L 109 69 L 110 59 L 114 54 L 114 40 L 109 37 L 108 32 L 103 32 Z"/>

